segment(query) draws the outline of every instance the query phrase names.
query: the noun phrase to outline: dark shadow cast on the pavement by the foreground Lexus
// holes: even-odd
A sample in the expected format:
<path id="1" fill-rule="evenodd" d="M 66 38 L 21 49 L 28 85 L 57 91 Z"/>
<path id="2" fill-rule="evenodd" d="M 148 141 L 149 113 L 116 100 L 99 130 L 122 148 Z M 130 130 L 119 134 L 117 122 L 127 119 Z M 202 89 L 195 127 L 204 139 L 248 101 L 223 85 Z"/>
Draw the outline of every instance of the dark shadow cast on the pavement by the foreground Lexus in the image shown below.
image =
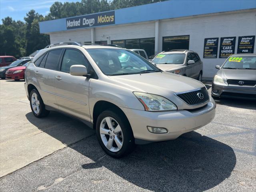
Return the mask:
<path id="1" fill-rule="evenodd" d="M 42 126 L 32 113 L 26 114 L 27 119 L 38 129 L 68 143 L 67 126 L 58 132 Z M 51 112 L 44 121 L 67 119 L 62 114 Z M 85 128 L 78 120 L 72 124 Z M 70 148 L 94 160 L 95 163 L 81 164 L 85 170 L 94 170 L 104 166 L 124 180 L 141 188 L 153 191 L 204 191 L 217 186 L 228 178 L 236 165 L 236 156 L 232 148 L 197 132 L 183 134 L 176 140 L 157 142 L 137 146 L 132 154 L 114 159 L 102 157 L 96 136 L 70 145 Z"/>

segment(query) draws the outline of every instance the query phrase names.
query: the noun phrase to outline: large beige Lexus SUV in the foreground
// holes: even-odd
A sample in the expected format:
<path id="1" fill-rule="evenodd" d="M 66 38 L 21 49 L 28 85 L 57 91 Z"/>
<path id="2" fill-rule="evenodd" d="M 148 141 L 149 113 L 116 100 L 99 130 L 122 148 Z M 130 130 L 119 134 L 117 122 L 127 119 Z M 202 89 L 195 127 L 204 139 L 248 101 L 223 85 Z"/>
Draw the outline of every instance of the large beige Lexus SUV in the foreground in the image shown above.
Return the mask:
<path id="1" fill-rule="evenodd" d="M 111 46 L 48 46 L 28 64 L 24 86 L 34 116 L 56 110 L 82 120 L 115 158 L 135 143 L 175 139 L 215 116 L 204 84 Z"/>

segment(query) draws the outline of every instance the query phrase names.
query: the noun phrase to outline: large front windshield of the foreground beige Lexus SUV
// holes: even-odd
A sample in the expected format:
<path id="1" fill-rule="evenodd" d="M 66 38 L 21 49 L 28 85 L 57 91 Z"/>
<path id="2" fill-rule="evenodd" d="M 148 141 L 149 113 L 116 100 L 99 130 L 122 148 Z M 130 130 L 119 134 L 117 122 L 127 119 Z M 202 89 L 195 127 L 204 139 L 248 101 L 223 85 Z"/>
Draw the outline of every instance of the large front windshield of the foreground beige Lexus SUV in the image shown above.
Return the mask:
<path id="1" fill-rule="evenodd" d="M 123 49 L 86 49 L 106 75 L 128 75 L 162 71 L 138 54 Z"/>

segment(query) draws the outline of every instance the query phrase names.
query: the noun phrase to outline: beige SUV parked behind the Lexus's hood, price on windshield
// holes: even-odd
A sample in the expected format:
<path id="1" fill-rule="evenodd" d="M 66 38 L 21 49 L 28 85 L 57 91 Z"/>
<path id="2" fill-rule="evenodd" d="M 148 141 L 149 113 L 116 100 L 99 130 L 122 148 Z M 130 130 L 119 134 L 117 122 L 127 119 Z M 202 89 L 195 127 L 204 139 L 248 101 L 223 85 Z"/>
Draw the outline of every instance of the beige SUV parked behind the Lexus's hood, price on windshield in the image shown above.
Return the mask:
<path id="1" fill-rule="evenodd" d="M 202 81 L 203 62 L 194 51 L 178 49 L 161 52 L 151 62 L 163 71 Z"/>

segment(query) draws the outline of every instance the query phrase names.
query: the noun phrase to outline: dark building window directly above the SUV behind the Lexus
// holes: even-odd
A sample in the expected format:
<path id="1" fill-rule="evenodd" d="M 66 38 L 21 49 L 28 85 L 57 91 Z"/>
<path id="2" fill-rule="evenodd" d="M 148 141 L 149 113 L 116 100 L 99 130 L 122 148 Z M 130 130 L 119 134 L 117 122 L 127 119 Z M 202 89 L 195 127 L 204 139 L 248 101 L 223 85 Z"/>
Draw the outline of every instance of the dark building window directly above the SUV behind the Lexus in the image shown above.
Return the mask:
<path id="1" fill-rule="evenodd" d="M 163 37 L 163 51 L 189 49 L 189 35 Z"/>

